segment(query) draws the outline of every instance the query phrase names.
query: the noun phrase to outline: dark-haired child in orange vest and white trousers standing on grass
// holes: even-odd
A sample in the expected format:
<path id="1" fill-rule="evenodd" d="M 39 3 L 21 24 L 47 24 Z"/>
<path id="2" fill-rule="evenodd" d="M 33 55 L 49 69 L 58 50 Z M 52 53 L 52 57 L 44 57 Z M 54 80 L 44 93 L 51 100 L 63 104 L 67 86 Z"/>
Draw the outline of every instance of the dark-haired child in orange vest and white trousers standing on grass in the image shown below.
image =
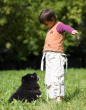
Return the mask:
<path id="1" fill-rule="evenodd" d="M 61 101 L 64 93 L 64 64 L 67 63 L 66 54 L 64 54 L 65 31 L 76 35 L 77 30 L 69 25 L 56 20 L 53 10 L 45 9 L 39 17 L 40 23 L 48 28 L 43 48 L 43 57 L 41 61 L 41 70 L 43 70 L 43 59 L 46 59 L 45 84 L 47 89 L 47 98 Z"/>

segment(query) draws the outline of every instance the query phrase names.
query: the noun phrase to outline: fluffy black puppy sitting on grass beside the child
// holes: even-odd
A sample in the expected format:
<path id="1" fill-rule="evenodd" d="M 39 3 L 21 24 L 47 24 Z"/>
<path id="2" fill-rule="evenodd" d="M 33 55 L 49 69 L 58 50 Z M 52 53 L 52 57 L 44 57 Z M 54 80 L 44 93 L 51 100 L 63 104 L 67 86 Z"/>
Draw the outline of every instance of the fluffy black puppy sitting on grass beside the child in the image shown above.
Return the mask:
<path id="1" fill-rule="evenodd" d="M 28 102 L 31 102 L 40 97 L 41 92 L 37 83 L 38 80 L 39 78 L 36 73 L 23 76 L 21 86 L 15 93 L 12 94 L 9 102 L 13 101 L 13 99 L 21 100 L 23 102 L 27 99 Z"/>

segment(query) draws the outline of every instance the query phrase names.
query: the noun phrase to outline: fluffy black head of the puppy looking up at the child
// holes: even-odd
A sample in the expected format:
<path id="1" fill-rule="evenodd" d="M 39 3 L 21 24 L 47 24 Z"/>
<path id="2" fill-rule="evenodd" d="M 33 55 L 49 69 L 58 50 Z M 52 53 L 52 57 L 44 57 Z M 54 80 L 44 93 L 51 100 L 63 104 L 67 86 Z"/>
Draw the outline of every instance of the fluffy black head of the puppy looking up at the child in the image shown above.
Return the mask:
<path id="1" fill-rule="evenodd" d="M 29 83 L 29 82 L 37 82 L 39 78 L 37 77 L 37 73 L 27 74 L 22 77 L 22 82 Z"/>

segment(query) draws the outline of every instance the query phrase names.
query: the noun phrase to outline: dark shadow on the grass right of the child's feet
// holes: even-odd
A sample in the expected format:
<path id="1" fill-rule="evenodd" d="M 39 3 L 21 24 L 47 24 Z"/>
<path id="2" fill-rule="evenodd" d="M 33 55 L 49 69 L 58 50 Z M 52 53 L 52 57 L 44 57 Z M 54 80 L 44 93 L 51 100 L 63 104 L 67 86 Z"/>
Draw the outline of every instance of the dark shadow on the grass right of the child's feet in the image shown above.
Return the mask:
<path id="1" fill-rule="evenodd" d="M 68 95 L 65 95 L 63 100 L 65 102 L 68 102 L 69 100 L 72 100 L 74 97 L 76 97 L 80 92 L 80 89 L 76 88 L 76 90 L 72 94 L 68 93 Z"/>

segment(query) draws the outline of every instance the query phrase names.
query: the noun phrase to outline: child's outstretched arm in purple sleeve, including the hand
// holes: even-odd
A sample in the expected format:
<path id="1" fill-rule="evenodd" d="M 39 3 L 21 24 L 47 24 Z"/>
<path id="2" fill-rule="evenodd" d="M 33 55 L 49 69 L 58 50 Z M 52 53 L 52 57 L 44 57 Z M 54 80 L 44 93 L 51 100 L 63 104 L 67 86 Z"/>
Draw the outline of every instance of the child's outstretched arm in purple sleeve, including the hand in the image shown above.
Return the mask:
<path id="1" fill-rule="evenodd" d="M 66 25 L 64 23 L 59 23 L 57 28 L 56 28 L 57 32 L 58 33 L 62 33 L 64 31 L 68 32 L 68 33 L 71 33 L 73 35 L 77 34 L 78 31 L 76 31 L 75 29 L 73 29 L 72 27 L 70 27 L 69 25 Z"/>

